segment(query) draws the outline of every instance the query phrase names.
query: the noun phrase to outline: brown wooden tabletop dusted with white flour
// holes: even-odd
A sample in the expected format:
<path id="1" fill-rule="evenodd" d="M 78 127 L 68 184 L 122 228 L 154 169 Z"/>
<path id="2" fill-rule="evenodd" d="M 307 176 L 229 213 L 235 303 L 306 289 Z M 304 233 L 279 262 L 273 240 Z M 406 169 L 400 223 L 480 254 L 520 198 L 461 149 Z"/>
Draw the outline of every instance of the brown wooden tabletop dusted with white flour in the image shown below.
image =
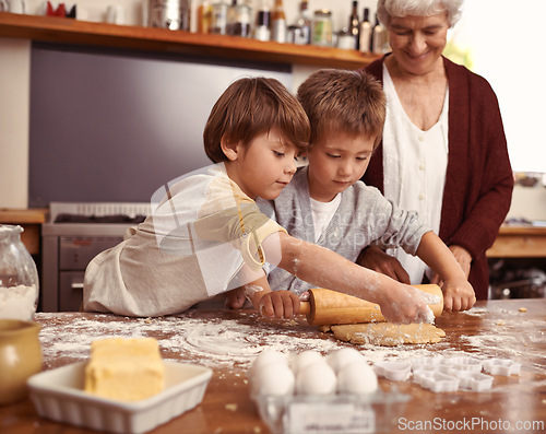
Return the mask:
<path id="1" fill-rule="evenodd" d="M 249 398 L 246 379 L 256 354 L 265 345 L 294 353 L 306 349 L 328 353 L 349 345 L 319 332 L 304 318 L 271 320 L 252 310 L 192 309 L 181 317 L 149 319 L 59 313 L 37 314 L 35 319 L 43 325 L 45 370 L 86 359 L 88 342 L 104 336 L 153 336 L 159 341 L 164 359 L 213 367 L 202 403 L 154 430 L 157 434 L 269 433 Z M 482 392 L 435 394 L 411 380 L 394 383 L 380 378 L 381 389 L 395 386 L 411 397 L 389 432 L 546 432 L 545 319 L 546 300 L 479 302 L 468 313 L 446 313 L 438 318 L 437 326 L 446 330 L 447 337 L 437 344 L 356 347 L 371 363 L 384 359 L 472 355 L 522 364 L 519 376 L 495 376 L 492 389 Z M 90 431 L 41 419 L 26 399 L 0 407 L 0 432 Z"/>

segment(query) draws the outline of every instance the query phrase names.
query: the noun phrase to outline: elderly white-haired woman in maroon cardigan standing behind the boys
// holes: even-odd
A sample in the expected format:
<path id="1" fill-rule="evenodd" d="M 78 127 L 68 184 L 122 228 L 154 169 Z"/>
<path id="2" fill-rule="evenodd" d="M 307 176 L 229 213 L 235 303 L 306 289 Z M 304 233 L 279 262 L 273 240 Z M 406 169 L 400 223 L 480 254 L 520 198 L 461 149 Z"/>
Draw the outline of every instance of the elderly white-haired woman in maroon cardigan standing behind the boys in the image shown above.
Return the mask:
<path id="1" fill-rule="evenodd" d="M 379 0 L 392 52 L 366 71 L 382 81 L 387 121 L 363 177 L 403 209 L 418 210 L 487 298 L 486 250 L 510 208 L 513 176 L 489 83 L 442 56 L 463 0 Z M 403 250 L 363 250 L 358 262 L 405 283 L 440 283 Z M 466 300 L 466 302 L 465 302 Z M 461 306 L 472 306 L 470 297 Z"/>

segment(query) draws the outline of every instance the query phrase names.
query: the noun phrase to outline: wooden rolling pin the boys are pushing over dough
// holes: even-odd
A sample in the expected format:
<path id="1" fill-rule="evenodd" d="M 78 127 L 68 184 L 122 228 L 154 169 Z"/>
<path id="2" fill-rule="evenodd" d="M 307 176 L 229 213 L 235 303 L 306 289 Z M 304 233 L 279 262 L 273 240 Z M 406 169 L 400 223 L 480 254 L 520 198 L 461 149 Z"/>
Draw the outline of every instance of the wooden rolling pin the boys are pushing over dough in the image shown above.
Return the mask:
<path id="1" fill-rule="evenodd" d="M 428 306 L 435 316 L 440 316 L 443 310 L 443 294 L 440 286 L 435 284 L 414 286 L 438 296 L 439 303 Z M 307 322 L 311 326 L 385 321 L 378 304 L 322 288 L 309 290 L 309 301 L 301 302 L 299 313 L 307 316 Z"/>

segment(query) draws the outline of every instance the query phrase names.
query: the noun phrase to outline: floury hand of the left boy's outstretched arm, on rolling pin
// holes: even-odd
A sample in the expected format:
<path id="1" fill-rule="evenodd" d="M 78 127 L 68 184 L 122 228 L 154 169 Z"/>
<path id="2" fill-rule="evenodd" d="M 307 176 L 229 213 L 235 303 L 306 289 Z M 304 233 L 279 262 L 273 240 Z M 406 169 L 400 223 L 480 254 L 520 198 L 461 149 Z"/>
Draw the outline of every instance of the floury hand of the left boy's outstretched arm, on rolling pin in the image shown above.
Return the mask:
<path id="1" fill-rule="evenodd" d="M 425 303 L 422 291 L 416 288 L 396 284 L 382 295 L 387 300 L 381 301 L 379 305 L 389 322 L 434 322 L 434 313 Z"/>

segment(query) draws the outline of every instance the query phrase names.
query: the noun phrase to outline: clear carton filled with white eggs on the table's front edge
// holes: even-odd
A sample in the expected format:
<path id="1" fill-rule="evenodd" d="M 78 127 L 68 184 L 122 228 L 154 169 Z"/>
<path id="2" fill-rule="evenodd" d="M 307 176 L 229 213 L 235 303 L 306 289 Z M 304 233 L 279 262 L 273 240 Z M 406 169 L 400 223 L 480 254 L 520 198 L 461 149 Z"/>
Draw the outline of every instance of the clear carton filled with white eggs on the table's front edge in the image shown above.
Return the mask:
<path id="1" fill-rule="evenodd" d="M 325 375 L 318 375 L 319 371 L 322 374 L 328 372 L 325 365 L 332 371 L 334 383 Z M 352 377 L 355 366 L 358 373 L 366 375 Z M 344 375 L 347 373 L 348 377 Z M 388 392 L 380 390 L 373 370 L 354 349 L 337 350 L 327 356 L 314 351 L 299 354 L 263 351 L 253 361 L 247 376 L 258 413 L 274 434 L 390 433 L 396 417 L 411 399 L 395 387 Z M 304 382 L 313 378 L 308 384 Z M 366 378 L 370 388 L 344 387 L 347 384 L 344 378 L 354 378 L 354 384 Z M 304 383 L 307 387 L 302 387 Z"/>

